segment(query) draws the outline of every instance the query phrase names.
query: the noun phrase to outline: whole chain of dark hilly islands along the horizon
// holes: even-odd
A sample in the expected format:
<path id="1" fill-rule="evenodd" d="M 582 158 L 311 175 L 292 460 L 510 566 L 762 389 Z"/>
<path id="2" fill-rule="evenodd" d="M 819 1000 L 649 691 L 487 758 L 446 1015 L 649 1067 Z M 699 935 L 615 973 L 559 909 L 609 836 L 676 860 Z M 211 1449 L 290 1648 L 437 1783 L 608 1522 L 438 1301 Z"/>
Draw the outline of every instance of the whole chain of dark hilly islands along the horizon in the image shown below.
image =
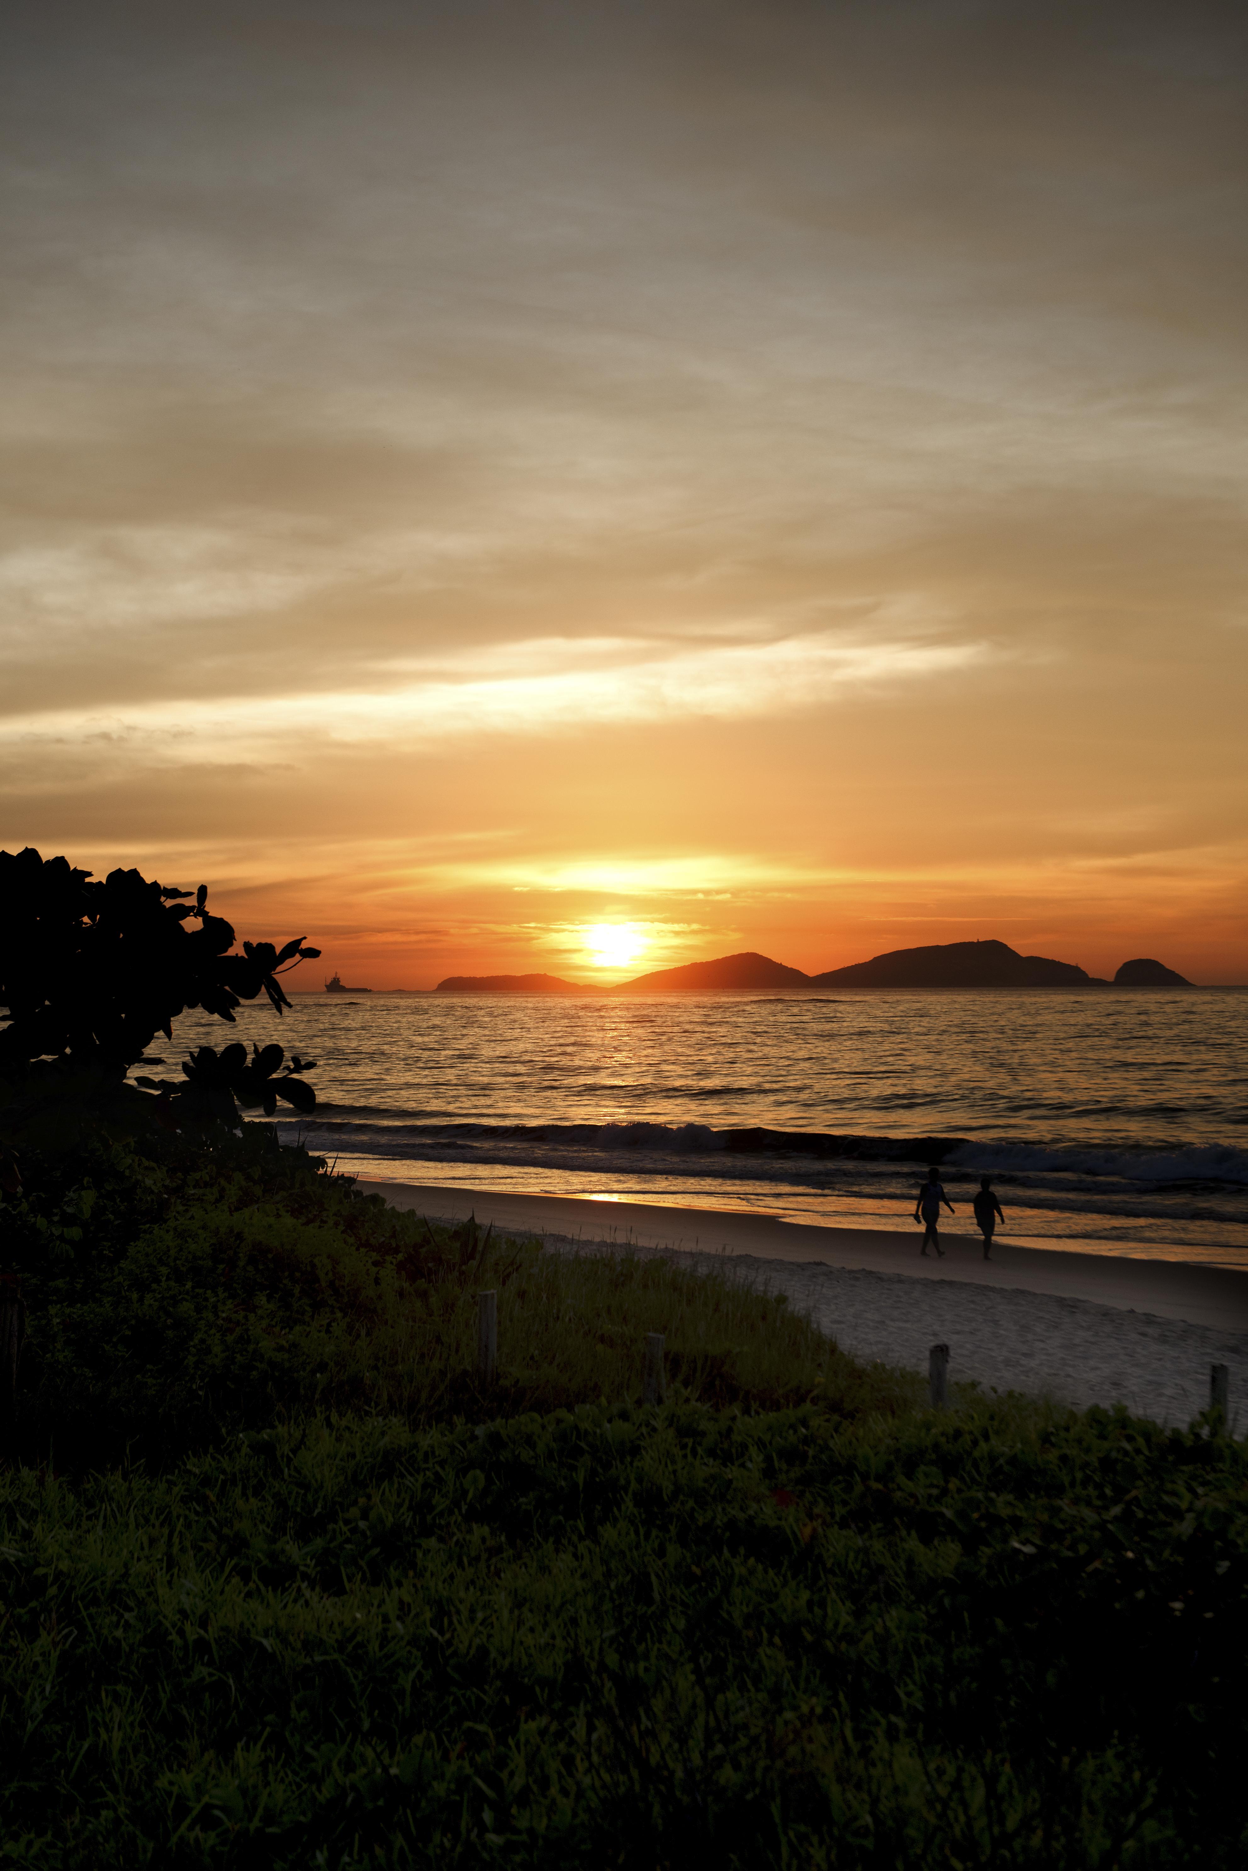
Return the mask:
<path id="1" fill-rule="evenodd" d="M 659 967 L 612 988 L 593 988 L 558 975 L 447 975 L 436 994 L 737 994 L 760 988 L 808 992 L 820 988 L 1190 988 L 1192 982 L 1162 962 L 1123 962 L 1113 980 L 1089 975 L 1074 962 L 1020 954 L 1009 943 L 949 941 L 926 949 L 891 949 L 870 962 L 803 975 L 771 956 L 745 950 L 715 962 Z M 344 990 L 357 992 L 357 990 Z"/>

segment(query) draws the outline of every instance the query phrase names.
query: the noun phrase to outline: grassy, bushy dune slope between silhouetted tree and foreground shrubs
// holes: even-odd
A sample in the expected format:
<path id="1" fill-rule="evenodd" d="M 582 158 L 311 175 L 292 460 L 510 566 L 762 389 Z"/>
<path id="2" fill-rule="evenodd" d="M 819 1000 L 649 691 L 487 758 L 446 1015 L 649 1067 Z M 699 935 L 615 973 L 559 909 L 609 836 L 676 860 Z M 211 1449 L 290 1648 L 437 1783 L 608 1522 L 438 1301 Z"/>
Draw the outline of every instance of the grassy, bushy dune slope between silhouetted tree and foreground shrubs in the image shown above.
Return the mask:
<path id="1" fill-rule="evenodd" d="M 0 1199 L 0 1278 L 30 1308 L 11 1443 L 28 1465 L 167 1467 L 309 1409 L 430 1424 L 627 1396 L 647 1328 L 702 1401 L 863 1401 L 857 1368 L 763 1295 L 666 1261 L 543 1255 L 473 1220 L 430 1226 L 268 1124 L 28 1149 L 22 1177 Z M 481 1285 L 503 1312 L 488 1394 Z M 868 1385 L 876 1407 L 894 1388 Z"/>

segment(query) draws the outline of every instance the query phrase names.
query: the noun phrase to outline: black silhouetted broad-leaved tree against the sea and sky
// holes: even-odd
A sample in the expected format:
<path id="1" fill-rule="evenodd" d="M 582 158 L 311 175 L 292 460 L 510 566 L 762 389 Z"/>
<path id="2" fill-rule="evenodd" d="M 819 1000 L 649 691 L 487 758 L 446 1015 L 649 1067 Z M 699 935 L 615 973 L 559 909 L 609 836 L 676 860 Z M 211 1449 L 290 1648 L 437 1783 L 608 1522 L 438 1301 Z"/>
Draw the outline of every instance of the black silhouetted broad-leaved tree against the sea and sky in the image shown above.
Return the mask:
<path id="1" fill-rule="evenodd" d="M 148 1059 L 157 1033 L 172 1038 L 172 1022 L 193 1007 L 234 1020 L 239 1001 L 268 995 L 281 1014 L 290 1007 L 279 973 L 320 950 L 299 936 L 277 949 L 243 943 L 234 928 L 208 913 L 208 887 L 191 891 L 150 881 L 137 870 L 112 870 L 92 881 L 64 857 L 43 859 L 26 848 L 0 851 L 0 1074 L 19 1083 L 54 1076 L 52 1089 L 73 1081 L 120 1085 Z M 200 1046 L 181 1066 L 183 1081 L 138 1080 L 161 1093 L 168 1123 L 234 1123 L 236 1100 L 268 1115 L 283 1098 L 297 1111 L 316 1104 L 297 1076 L 314 1061 L 284 1065 L 281 1046 L 241 1044 L 217 1053 Z"/>

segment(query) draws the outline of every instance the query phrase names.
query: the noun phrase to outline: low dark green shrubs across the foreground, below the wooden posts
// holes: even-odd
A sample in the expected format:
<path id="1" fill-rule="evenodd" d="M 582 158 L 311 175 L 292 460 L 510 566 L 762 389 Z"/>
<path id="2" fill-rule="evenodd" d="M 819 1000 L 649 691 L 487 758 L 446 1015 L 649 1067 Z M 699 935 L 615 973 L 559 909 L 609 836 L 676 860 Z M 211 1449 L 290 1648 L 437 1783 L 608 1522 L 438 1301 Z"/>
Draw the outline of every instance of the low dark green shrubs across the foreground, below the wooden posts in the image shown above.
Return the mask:
<path id="1" fill-rule="evenodd" d="M 582 1407 L 4 1484 L 22 1865 L 1244 1862 L 1244 1452 Z"/>

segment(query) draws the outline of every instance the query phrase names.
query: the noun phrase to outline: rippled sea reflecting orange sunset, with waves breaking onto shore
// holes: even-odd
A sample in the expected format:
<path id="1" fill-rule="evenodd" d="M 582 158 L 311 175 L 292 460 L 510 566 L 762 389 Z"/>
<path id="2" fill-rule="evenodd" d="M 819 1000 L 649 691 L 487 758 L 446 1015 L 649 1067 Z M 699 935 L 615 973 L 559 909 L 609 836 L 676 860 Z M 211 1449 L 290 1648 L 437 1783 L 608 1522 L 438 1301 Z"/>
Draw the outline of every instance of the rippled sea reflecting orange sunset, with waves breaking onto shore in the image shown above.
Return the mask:
<path id="1" fill-rule="evenodd" d="M 1248 990 L 292 1001 L 174 1042 L 314 1057 L 279 1128 L 363 1177 L 909 1231 L 939 1164 L 952 1229 L 990 1175 L 1005 1239 L 1248 1267 Z"/>

